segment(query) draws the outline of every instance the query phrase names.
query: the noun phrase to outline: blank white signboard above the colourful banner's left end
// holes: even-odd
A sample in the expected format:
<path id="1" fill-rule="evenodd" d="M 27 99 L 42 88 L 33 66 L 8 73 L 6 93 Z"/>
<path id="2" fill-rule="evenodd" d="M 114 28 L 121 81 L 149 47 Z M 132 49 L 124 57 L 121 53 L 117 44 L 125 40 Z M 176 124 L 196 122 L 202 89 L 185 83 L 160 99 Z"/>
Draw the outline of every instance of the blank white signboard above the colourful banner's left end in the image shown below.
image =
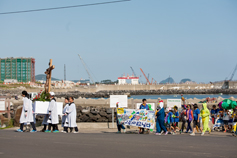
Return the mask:
<path id="1" fill-rule="evenodd" d="M 120 103 L 120 108 L 128 107 L 128 96 L 127 95 L 110 95 L 110 107 L 116 108 L 116 103 Z"/>

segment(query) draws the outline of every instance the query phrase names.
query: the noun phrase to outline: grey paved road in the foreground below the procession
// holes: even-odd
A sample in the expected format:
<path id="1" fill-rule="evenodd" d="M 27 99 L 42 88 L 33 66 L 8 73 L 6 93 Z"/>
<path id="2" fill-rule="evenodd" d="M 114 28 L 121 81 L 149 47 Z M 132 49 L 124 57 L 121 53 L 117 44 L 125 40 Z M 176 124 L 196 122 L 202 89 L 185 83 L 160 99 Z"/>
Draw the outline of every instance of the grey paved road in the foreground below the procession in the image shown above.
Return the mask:
<path id="1" fill-rule="evenodd" d="M 0 130 L 0 158 L 237 157 L 237 138 Z"/>

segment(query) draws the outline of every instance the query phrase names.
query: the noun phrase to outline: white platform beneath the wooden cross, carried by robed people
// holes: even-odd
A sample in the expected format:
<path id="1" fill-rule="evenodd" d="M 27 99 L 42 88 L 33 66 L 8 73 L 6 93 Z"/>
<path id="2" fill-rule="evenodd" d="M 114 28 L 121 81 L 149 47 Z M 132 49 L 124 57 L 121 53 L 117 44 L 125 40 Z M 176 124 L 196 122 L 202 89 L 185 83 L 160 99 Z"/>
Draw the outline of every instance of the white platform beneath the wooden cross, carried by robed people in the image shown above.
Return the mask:
<path id="1" fill-rule="evenodd" d="M 63 103 L 56 102 L 58 108 L 58 115 L 63 114 Z M 35 101 L 33 103 L 33 109 L 36 114 L 48 114 L 49 102 Z"/>

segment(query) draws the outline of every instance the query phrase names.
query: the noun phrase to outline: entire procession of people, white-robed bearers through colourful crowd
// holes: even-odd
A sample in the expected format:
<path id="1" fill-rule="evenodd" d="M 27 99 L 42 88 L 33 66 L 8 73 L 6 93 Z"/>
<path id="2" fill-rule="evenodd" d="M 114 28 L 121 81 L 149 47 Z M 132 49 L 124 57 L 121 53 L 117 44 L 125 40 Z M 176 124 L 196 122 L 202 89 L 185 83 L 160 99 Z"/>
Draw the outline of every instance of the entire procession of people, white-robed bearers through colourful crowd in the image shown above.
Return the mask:
<path id="1" fill-rule="evenodd" d="M 44 120 L 42 122 L 43 129 L 42 132 L 45 133 L 58 133 L 58 108 L 55 99 L 55 93 L 50 92 L 50 102 L 48 107 L 48 113 L 44 114 Z M 30 132 L 37 132 L 35 127 L 34 111 L 32 107 L 32 101 L 29 98 L 29 94 L 26 91 L 22 92 L 23 97 L 23 108 L 20 117 L 20 129 L 17 132 L 23 132 L 24 125 L 30 124 L 32 130 Z M 63 133 L 79 133 L 76 118 L 77 110 L 74 103 L 73 97 L 65 98 L 65 106 L 63 108 L 62 123 L 61 126 Z M 120 108 L 120 103 L 116 103 L 116 108 Z M 152 110 L 147 104 L 147 100 L 143 99 L 142 104 L 139 109 Z M 117 110 L 116 110 L 117 111 Z M 174 107 L 164 107 L 162 100 L 159 101 L 158 106 L 155 111 L 156 117 L 156 132 L 155 135 L 176 135 L 178 133 L 190 133 L 190 136 L 195 136 L 196 131 L 201 132 L 201 136 L 205 134 L 206 131 L 210 134 L 211 131 L 222 129 L 224 133 L 227 131 L 233 132 L 233 136 L 237 135 L 236 122 L 237 122 L 237 110 L 236 107 L 233 110 L 226 110 L 217 108 L 213 105 L 211 111 L 208 110 L 207 104 L 202 104 L 202 109 L 200 110 L 197 104 L 182 105 L 181 109 L 177 106 Z M 209 127 L 209 122 L 213 124 L 213 127 Z M 121 129 L 126 133 L 126 128 L 123 122 L 118 120 L 118 115 L 116 113 L 116 123 L 118 132 L 121 133 Z M 181 123 L 181 124 L 180 124 Z M 179 124 L 181 125 L 179 127 Z M 191 126 L 192 124 L 192 126 Z M 48 128 L 47 128 L 48 127 Z M 70 131 L 68 131 L 68 129 Z M 184 130 L 186 129 L 186 131 Z M 73 131 L 74 130 L 74 131 Z M 139 127 L 138 134 L 144 134 L 145 128 Z M 146 128 L 149 133 L 149 128 Z"/>

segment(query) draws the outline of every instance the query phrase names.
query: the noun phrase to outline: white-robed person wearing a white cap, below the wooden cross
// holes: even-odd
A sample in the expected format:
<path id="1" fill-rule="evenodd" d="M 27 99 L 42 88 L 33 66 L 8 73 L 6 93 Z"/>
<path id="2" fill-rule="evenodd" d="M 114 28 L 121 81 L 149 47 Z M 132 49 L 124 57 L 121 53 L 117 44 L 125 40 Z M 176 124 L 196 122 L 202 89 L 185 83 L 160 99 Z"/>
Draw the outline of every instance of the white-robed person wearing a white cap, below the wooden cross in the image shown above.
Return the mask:
<path id="1" fill-rule="evenodd" d="M 57 103 L 56 99 L 54 98 L 55 93 L 54 92 L 49 92 L 50 94 L 50 103 L 49 103 L 49 119 L 48 119 L 48 130 L 46 130 L 46 133 L 51 132 L 51 126 L 53 126 L 53 133 L 58 133 L 58 108 L 57 108 Z"/>

